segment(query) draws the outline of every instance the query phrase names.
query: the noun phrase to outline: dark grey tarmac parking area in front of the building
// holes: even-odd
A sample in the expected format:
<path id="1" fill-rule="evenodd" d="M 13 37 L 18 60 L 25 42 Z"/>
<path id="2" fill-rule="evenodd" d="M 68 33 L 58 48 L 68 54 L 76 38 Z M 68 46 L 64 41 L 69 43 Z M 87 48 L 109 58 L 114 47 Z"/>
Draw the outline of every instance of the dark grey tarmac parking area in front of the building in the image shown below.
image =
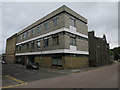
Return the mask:
<path id="1" fill-rule="evenodd" d="M 3 64 L 2 65 L 2 86 L 13 85 L 13 81 L 8 82 L 5 76 L 9 75 L 24 82 L 32 82 L 40 79 L 58 77 L 68 73 L 62 70 L 40 68 L 39 70 L 26 69 L 25 66 L 19 64 Z M 15 83 L 14 83 L 15 84 Z"/>

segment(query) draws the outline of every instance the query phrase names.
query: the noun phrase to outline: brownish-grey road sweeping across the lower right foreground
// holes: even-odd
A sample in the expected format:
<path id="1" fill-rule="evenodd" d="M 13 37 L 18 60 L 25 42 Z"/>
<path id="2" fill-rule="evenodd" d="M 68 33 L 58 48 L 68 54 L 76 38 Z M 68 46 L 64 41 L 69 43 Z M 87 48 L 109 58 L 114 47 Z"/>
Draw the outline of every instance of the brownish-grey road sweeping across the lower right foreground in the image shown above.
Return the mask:
<path id="1" fill-rule="evenodd" d="M 118 88 L 118 63 L 87 72 L 41 79 L 17 88 Z"/>

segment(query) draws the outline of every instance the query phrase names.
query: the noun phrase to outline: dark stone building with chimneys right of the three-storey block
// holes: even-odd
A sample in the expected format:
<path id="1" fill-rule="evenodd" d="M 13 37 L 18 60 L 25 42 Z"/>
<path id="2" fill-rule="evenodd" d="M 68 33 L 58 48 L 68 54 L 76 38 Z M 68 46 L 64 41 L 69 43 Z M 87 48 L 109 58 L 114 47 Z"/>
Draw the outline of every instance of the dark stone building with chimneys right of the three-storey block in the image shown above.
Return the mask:
<path id="1" fill-rule="evenodd" d="M 110 62 L 109 44 L 106 36 L 95 37 L 94 31 L 88 32 L 89 38 L 89 66 L 102 66 Z"/>

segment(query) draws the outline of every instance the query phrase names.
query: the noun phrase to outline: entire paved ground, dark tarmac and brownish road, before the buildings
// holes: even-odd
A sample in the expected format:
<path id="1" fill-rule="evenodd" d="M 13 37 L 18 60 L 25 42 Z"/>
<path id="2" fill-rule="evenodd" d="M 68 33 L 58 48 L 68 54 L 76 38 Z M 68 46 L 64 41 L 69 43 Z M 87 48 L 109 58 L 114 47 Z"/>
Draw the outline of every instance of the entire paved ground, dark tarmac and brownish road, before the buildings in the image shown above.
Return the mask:
<path id="1" fill-rule="evenodd" d="M 20 88 L 26 88 L 26 87 L 27 88 L 31 88 L 31 87 L 32 88 L 66 88 L 66 87 L 67 88 L 71 88 L 71 87 L 72 88 L 73 87 L 116 88 L 118 87 L 118 82 L 117 82 L 118 72 L 116 71 L 117 65 L 118 63 L 116 62 L 115 64 L 108 66 L 88 67 L 88 68 L 80 68 L 80 69 L 72 69 L 72 70 L 51 69 L 51 68 L 40 68 L 39 70 L 29 70 L 22 65 L 5 64 L 2 66 L 3 68 L 2 87 L 3 88 L 15 88 L 15 87 L 16 88 L 19 87 Z M 109 72 L 107 69 L 109 70 Z M 110 77 L 110 75 L 112 76 Z M 98 79 L 97 77 L 100 77 L 100 79 Z M 103 82 L 101 80 L 103 80 Z M 95 83 L 94 81 L 98 83 Z M 98 84 L 99 86 L 98 85 L 94 86 L 94 84 L 95 85 Z M 105 86 L 102 84 L 105 84 Z"/>

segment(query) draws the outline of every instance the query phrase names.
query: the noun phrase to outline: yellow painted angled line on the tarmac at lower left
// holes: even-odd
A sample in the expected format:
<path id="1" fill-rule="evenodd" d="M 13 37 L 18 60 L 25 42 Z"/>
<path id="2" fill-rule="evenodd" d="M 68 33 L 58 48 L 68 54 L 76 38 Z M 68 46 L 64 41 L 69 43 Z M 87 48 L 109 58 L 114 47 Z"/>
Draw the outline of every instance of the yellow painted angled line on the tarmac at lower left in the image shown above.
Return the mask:
<path id="1" fill-rule="evenodd" d="M 13 81 L 15 81 L 15 82 L 17 82 L 17 83 L 19 83 L 19 84 L 17 84 L 17 85 L 11 85 L 11 86 L 5 86 L 5 87 L 2 87 L 2 88 L 10 88 L 10 87 L 16 87 L 16 86 L 26 85 L 26 84 L 27 84 L 26 82 L 21 81 L 21 80 L 19 80 L 19 79 L 16 79 L 16 78 L 14 78 L 14 77 L 11 77 L 11 76 L 9 76 L 9 75 L 6 75 L 6 76 L 4 76 L 4 77 L 6 77 L 6 78 L 8 78 L 8 79 L 10 79 L 10 80 L 13 80 Z"/>

